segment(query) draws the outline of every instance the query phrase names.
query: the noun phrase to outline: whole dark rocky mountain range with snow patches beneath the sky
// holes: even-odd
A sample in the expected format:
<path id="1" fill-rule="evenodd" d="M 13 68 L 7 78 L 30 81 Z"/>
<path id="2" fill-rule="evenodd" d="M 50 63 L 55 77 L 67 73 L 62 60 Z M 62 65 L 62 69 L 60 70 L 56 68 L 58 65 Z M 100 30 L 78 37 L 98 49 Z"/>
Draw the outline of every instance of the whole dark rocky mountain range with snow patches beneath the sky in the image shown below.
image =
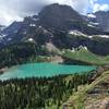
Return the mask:
<path id="1" fill-rule="evenodd" d="M 14 22 L 1 34 L 0 46 L 31 41 L 38 46 L 52 44 L 59 49 L 86 46 L 98 55 L 109 53 L 109 12 L 83 16 L 69 5 L 45 7 L 38 15 Z"/>

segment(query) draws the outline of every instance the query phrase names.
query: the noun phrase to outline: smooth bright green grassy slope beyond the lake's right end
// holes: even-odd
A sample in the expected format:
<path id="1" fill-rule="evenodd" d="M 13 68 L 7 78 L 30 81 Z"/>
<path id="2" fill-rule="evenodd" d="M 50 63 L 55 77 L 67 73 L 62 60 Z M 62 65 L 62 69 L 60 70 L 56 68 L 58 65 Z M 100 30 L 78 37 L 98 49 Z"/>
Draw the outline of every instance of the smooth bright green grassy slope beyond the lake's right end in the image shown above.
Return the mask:
<path id="1" fill-rule="evenodd" d="M 65 52 L 62 56 L 71 60 L 83 61 L 89 64 L 96 64 L 96 65 L 109 64 L 109 56 L 107 57 L 97 56 L 85 49 L 80 49 L 74 52 L 65 50 Z"/>

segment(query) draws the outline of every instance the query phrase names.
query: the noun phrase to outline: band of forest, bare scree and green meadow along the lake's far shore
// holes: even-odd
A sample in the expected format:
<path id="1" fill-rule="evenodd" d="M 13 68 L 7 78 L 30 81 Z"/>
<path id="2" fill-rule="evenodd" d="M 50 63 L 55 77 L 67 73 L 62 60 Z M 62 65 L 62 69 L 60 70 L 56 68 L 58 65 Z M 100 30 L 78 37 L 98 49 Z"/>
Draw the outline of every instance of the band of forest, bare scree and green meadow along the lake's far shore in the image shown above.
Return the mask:
<path id="1" fill-rule="evenodd" d="M 11 66 L 27 62 L 58 62 L 72 64 L 109 64 L 109 56 L 98 56 L 86 47 L 58 49 L 52 44 L 39 46 L 35 43 L 20 43 L 5 46 L 0 51 L 0 68 Z"/>

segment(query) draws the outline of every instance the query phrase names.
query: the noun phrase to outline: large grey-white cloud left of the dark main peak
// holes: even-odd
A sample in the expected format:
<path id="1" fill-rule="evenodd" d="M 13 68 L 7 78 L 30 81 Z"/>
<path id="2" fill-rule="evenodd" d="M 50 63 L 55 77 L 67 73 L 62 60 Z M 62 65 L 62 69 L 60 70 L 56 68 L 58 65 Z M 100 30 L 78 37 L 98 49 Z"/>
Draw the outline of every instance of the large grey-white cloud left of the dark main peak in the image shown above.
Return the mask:
<path id="1" fill-rule="evenodd" d="M 0 24 L 9 25 L 13 21 L 36 14 L 43 3 L 37 0 L 0 0 Z"/>

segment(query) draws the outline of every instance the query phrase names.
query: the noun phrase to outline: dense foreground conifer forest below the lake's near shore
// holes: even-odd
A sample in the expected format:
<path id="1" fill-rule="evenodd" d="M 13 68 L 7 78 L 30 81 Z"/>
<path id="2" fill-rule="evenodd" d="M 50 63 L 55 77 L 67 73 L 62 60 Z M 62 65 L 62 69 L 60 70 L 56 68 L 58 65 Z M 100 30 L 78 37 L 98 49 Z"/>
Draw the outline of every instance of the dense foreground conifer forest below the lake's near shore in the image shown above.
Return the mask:
<path id="1" fill-rule="evenodd" d="M 62 109 L 77 86 L 87 83 L 88 74 L 0 82 L 0 109 Z"/>

